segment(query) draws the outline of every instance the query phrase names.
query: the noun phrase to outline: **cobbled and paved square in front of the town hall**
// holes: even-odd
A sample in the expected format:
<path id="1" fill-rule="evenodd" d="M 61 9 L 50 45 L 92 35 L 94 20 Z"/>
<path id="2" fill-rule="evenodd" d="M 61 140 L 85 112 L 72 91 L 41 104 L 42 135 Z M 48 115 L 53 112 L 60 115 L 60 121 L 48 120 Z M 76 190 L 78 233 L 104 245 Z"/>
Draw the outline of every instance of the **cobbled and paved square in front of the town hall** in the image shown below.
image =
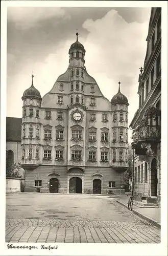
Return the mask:
<path id="1" fill-rule="evenodd" d="M 160 229 L 115 197 L 7 194 L 6 242 L 160 243 Z"/>

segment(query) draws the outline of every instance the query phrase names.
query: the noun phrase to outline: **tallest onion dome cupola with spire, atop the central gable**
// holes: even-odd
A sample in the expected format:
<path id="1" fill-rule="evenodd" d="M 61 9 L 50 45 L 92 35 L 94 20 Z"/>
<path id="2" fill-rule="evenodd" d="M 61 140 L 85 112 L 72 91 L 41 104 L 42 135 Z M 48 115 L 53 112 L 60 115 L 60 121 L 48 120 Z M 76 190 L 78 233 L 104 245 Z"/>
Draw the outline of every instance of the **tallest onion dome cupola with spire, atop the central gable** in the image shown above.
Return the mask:
<path id="1" fill-rule="evenodd" d="M 69 64 L 71 66 L 83 66 L 84 67 L 84 57 L 85 57 L 85 48 L 78 41 L 78 32 L 76 33 L 77 40 L 74 42 L 69 49 Z M 79 63 L 77 63 L 79 62 Z"/>

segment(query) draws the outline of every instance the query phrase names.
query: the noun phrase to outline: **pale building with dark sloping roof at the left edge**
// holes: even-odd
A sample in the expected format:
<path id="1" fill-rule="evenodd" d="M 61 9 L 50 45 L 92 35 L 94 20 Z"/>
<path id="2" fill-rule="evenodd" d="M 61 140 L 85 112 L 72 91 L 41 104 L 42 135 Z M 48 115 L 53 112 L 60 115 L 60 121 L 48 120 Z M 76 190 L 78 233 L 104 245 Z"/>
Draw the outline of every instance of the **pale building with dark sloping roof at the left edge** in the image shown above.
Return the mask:
<path id="1" fill-rule="evenodd" d="M 6 118 L 6 164 L 21 162 L 21 118 Z M 23 169 L 20 169 L 20 175 L 24 177 Z"/>

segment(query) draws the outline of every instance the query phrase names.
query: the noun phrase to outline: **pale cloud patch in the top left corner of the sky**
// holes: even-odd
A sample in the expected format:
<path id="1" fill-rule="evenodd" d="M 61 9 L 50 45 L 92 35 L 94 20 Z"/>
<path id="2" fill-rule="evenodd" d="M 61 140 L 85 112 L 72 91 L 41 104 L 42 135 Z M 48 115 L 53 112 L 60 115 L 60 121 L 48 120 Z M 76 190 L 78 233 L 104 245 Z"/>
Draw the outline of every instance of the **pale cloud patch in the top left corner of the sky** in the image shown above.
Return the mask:
<path id="1" fill-rule="evenodd" d="M 15 23 L 17 29 L 24 30 L 40 27 L 40 22 L 53 17 L 57 19 L 70 19 L 70 15 L 63 8 L 59 7 L 8 7 L 8 20 Z"/>

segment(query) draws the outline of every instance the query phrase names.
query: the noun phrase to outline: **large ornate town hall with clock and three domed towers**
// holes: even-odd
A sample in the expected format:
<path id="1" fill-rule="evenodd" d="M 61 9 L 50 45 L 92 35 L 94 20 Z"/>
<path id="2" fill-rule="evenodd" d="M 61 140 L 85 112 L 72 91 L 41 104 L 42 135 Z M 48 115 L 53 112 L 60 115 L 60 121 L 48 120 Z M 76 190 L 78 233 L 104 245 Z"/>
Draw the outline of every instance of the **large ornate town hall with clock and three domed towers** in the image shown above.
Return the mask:
<path id="1" fill-rule="evenodd" d="M 69 49 L 69 66 L 41 98 L 22 96 L 21 164 L 25 191 L 124 194 L 128 168 L 128 99 L 106 99 L 84 66 L 85 49 Z M 120 82 L 119 82 L 120 87 Z"/>

